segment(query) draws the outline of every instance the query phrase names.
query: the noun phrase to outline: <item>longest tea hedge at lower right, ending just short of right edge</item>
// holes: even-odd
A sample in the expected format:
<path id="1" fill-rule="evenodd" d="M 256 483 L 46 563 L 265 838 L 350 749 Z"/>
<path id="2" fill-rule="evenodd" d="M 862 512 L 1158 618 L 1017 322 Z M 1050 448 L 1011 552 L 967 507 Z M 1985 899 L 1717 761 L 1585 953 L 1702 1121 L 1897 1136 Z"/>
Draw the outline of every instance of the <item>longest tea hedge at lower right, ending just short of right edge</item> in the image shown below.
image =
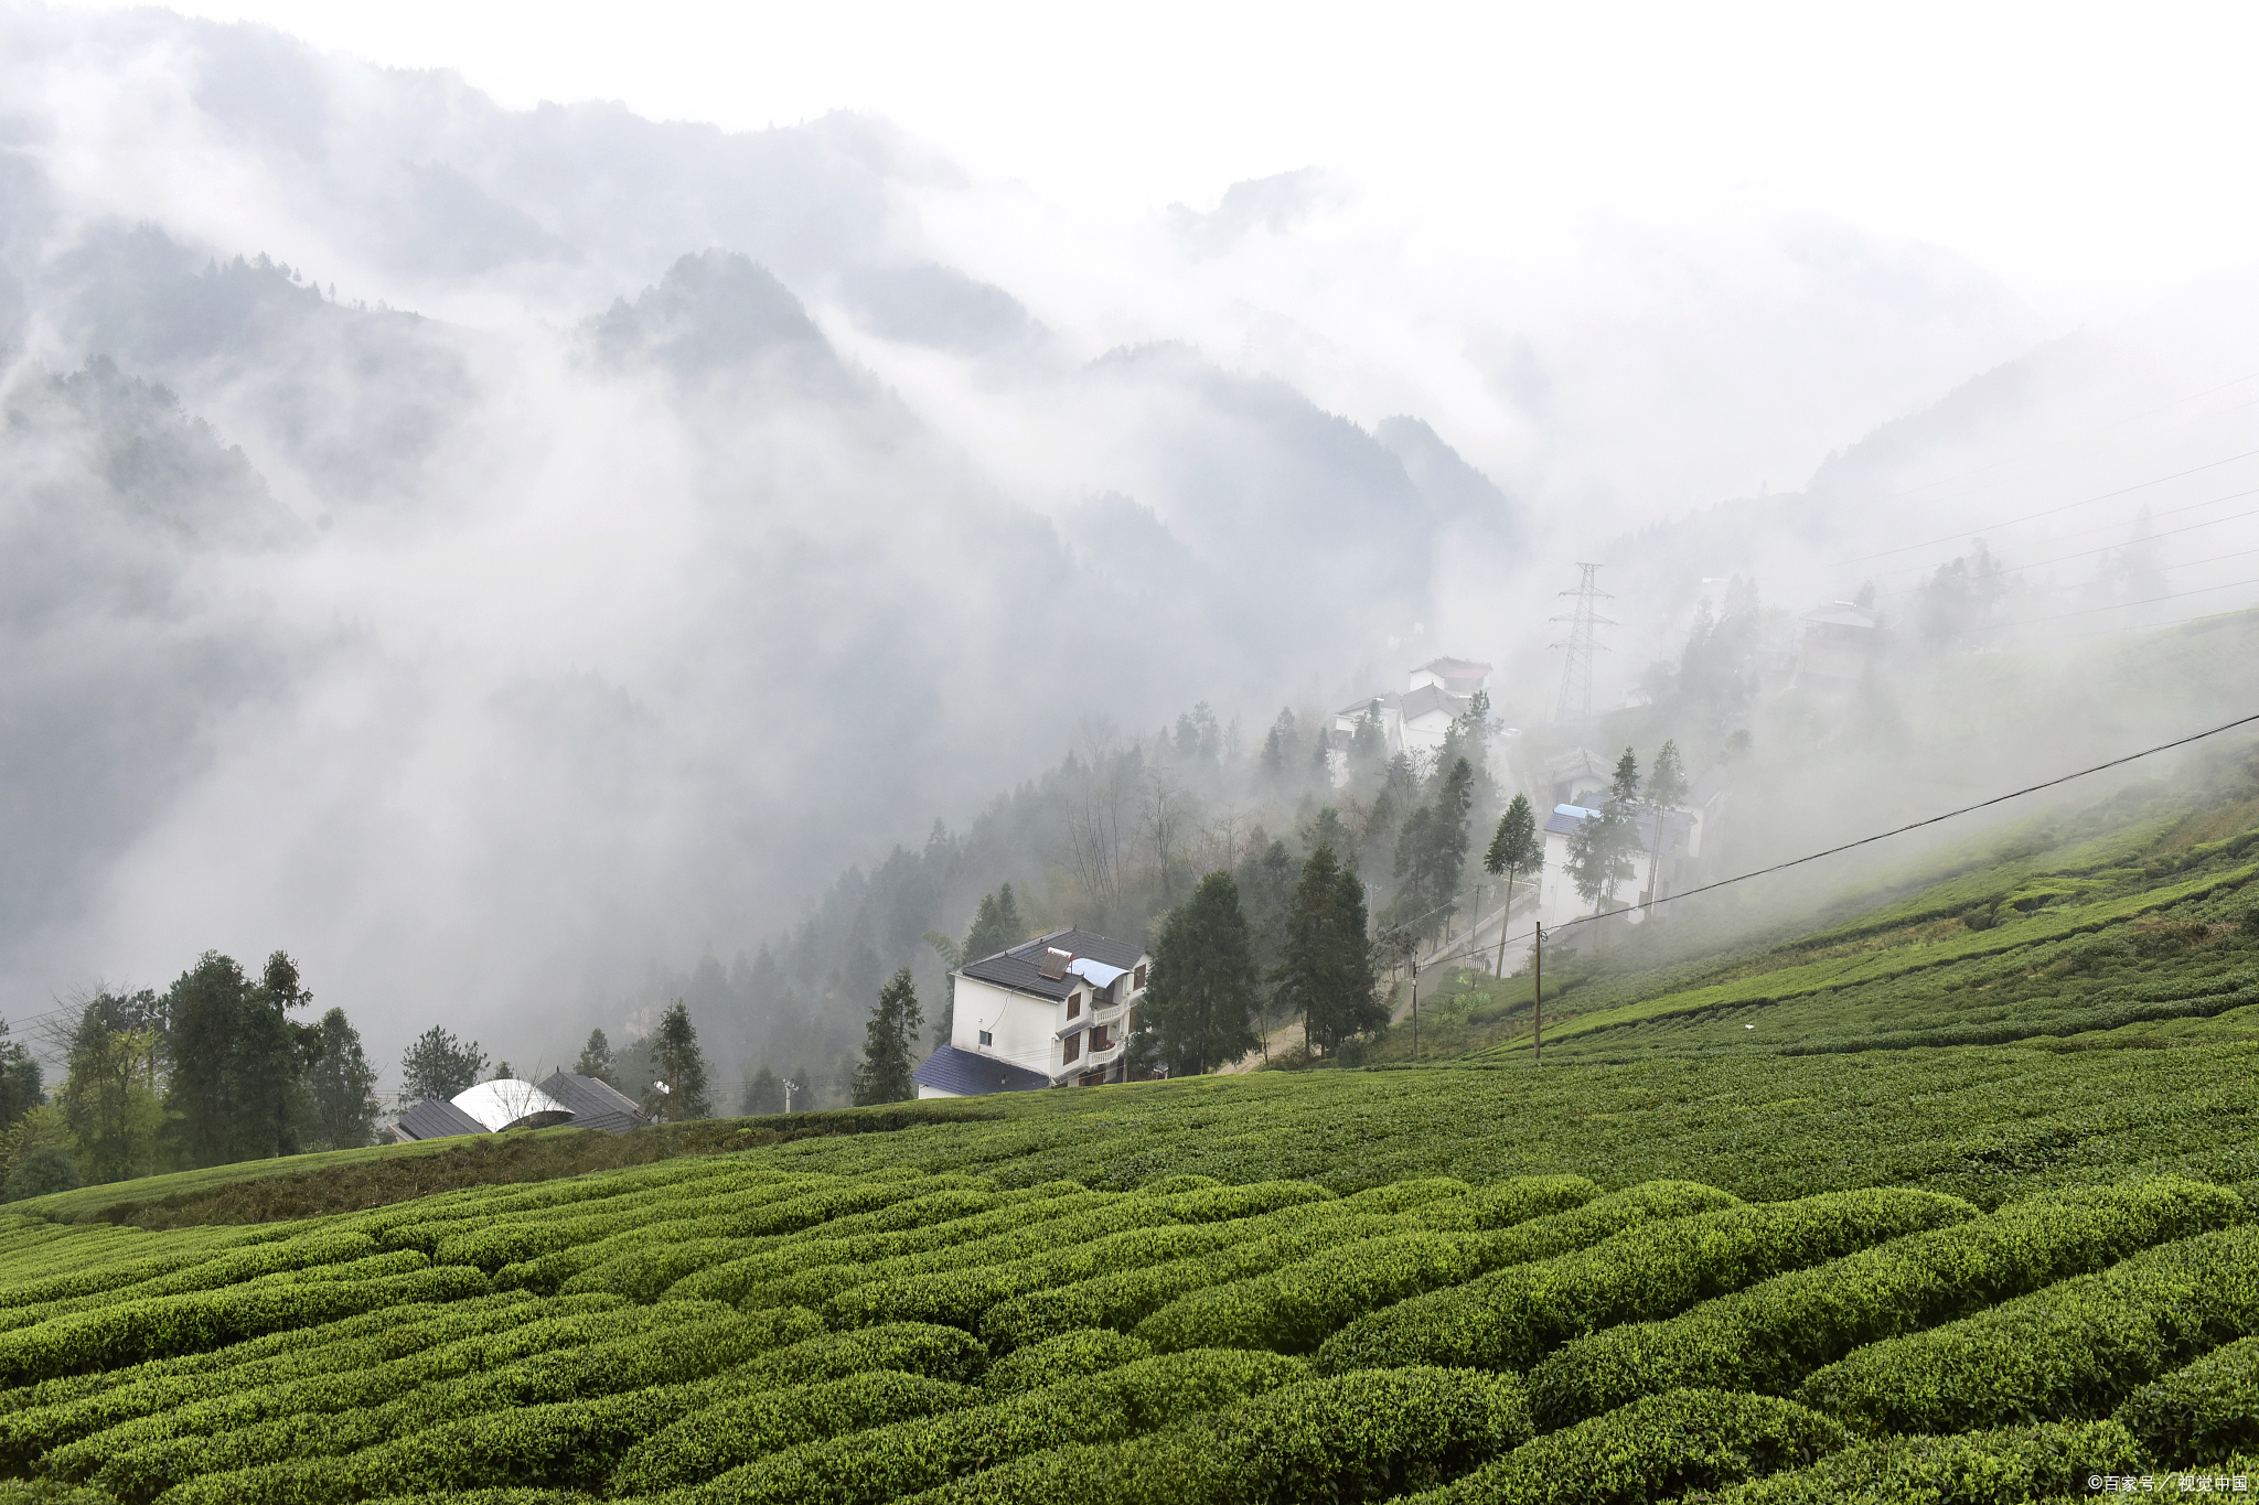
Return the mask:
<path id="1" fill-rule="evenodd" d="M 2182 1178 L 2065 1191 L 1909 1234 L 1703 1302 L 1667 1322 L 1579 1338 L 1529 1372 L 1552 1431 L 1681 1388 L 1794 1390 L 1843 1354 L 2227 1225 L 2234 1196 Z"/>

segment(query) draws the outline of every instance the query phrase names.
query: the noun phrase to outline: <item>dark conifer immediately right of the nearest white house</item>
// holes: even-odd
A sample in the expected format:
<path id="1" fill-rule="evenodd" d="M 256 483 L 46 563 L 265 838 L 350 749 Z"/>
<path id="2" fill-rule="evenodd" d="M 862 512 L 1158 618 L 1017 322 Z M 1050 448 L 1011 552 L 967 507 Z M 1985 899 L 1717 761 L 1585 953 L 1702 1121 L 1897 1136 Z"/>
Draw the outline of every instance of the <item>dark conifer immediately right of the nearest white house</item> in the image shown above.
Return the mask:
<path id="1" fill-rule="evenodd" d="M 1209 873 L 1161 921 L 1152 945 L 1145 1018 L 1170 1076 L 1197 1076 L 1238 1060 L 1263 1038 L 1256 963 L 1231 873 Z"/>

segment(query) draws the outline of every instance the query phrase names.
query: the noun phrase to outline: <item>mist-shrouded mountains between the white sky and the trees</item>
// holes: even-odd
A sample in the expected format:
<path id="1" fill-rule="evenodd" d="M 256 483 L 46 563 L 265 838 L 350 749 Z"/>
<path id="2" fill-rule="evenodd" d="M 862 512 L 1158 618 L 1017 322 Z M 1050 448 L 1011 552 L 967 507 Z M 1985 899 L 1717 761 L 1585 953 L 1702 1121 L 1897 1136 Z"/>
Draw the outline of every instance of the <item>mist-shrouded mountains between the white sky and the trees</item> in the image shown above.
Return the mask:
<path id="1" fill-rule="evenodd" d="M 2065 336 L 1767 205 L 1504 269 L 1310 167 L 1102 255 L 1014 205 L 870 115 L 0 11 L 5 1013 L 287 945 L 380 1060 L 434 1020 L 569 1060 L 653 988 L 782 991 L 764 941 L 849 934 L 897 844 L 985 891 L 949 844 L 1091 727 L 1206 704 L 1245 751 L 1439 652 L 1545 720 L 1579 560 L 1613 709 L 1728 578 L 1889 600 L 1972 517 L 2254 447 L 2248 388 L 2189 399 L 2241 375 L 2193 309 Z M 2135 508 L 2243 474 L 1990 546 L 2085 609 Z"/>

